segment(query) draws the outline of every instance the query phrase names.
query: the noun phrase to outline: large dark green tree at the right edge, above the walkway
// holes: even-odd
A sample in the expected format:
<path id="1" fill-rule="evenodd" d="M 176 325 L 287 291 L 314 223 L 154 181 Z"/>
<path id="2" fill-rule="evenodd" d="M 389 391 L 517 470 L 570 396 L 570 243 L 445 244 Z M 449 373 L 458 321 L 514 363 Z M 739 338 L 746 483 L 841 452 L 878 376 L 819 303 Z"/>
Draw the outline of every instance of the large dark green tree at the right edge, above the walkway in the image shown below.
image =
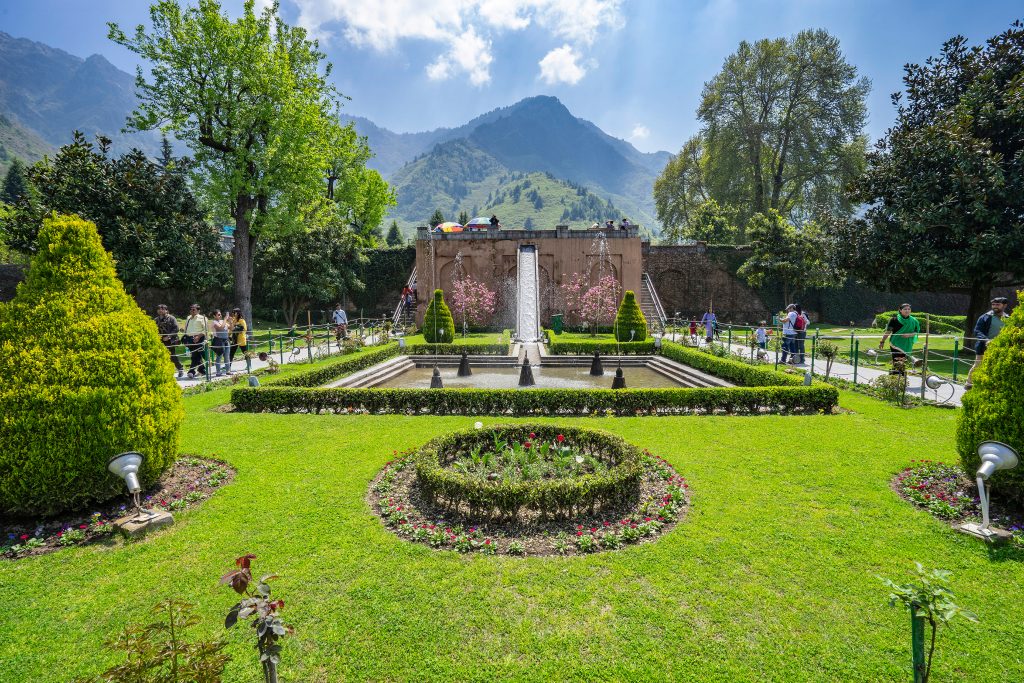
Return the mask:
<path id="1" fill-rule="evenodd" d="M 873 287 L 968 294 L 970 330 L 992 288 L 1024 279 L 1024 26 L 904 72 L 854 184 L 867 209 L 828 223 L 829 252 Z"/>

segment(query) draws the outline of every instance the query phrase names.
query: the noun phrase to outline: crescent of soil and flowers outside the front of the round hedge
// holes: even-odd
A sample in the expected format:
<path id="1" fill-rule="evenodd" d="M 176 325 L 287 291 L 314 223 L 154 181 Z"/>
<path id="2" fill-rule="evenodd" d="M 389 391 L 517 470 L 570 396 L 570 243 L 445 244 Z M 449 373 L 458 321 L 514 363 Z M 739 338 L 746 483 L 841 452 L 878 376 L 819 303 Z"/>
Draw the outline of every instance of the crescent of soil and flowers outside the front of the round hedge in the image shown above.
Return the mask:
<path id="1" fill-rule="evenodd" d="M 398 456 L 381 470 L 370 483 L 367 502 L 388 529 L 436 550 L 530 557 L 590 555 L 654 541 L 671 531 L 689 510 L 686 480 L 660 457 L 645 454 L 640 493 L 631 505 L 569 519 L 542 520 L 537 513 L 520 513 L 515 520 L 473 518 L 465 508 L 453 511 L 424 496 L 413 453 Z M 382 486 L 389 472 L 390 481 Z M 395 517 L 408 519 L 402 522 Z"/>

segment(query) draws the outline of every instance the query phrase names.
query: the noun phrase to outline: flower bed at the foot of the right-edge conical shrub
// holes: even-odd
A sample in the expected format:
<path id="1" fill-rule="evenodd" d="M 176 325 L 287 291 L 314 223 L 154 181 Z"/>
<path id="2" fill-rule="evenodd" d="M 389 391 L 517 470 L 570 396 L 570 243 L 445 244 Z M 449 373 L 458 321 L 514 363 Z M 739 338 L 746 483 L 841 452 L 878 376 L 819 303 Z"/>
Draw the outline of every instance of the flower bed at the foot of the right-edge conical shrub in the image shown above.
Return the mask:
<path id="1" fill-rule="evenodd" d="M 964 468 L 931 460 L 910 463 L 892 481 L 893 489 L 904 500 L 951 523 L 981 522 L 978 485 Z M 1024 548 L 1024 511 L 1004 508 L 999 501 L 991 505 L 992 524 L 1010 530 L 1014 545 Z"/>

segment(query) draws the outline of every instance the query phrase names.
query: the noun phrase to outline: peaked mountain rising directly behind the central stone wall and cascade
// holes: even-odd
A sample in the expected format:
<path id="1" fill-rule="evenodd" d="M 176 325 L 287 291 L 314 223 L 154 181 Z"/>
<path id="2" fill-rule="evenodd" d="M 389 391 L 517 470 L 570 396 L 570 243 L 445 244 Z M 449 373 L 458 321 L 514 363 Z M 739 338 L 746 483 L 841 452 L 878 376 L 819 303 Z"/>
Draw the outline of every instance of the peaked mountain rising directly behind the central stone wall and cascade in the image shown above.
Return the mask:
<path id="1" fill-rule="evenodd" d="M 370 165 L 395 187 L 398 206 L 391 218 L 404 227 L 424 224 L 435 208 L 445 216 L 473 213 L 474 207 L 479 213 L 497 212 L 486 197 L 506 189 L 502 179 L 541 173 L 566 181 L 571 191 L 574 185 L 590 190 L 634 222 L 659 228 L 652 191 L 671 155 L 641 153 L 572 116 L 556 97 L 527 97 L 457 128 L 422 133 L 393 133 L 367 119 L 349 120 L 376 155 Z M 408 163 L 399 168 L 395 164 L 402 158 Z M 544 201 L 550 205 L 561 199 Z M 540 220 L 534 216 L 539 227 L 548 227 Z"/>

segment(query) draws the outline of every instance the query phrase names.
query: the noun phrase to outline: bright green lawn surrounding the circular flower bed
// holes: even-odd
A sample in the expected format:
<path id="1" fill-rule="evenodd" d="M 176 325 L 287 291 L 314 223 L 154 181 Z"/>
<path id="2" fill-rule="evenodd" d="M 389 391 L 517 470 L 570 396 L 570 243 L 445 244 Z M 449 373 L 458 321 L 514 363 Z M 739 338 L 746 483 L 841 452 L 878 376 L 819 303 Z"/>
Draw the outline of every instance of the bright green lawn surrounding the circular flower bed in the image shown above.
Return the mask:
<path id="1" fill-rule="evenodd" d="M 649 545 L 524 560 L 403 542 L 365 501 L 394 450 L 475 418 L 216 411 L 227 395 L 186 399 L 182 451 L 238 469 L 210 501 L 139 543 L 0 562 L 0 679 L 95 674 L 104 638 L 172 595 L 221 633 L 217 580 L 246 552 L 281 574 L 284 681 L 908 681 L 909 618 L 876 574 L 914 560 L 980 617 L 940 636 L 933 680 L 1024 679 L 1020 555 L 889 488 L 910 459 L 954 458 L 952 411 L 844 393 L 838 416 L 565 420 L 665 456 L 692 511 Z M 229 641 L 225 680 L 258 681 L 249 630 Z"/>

